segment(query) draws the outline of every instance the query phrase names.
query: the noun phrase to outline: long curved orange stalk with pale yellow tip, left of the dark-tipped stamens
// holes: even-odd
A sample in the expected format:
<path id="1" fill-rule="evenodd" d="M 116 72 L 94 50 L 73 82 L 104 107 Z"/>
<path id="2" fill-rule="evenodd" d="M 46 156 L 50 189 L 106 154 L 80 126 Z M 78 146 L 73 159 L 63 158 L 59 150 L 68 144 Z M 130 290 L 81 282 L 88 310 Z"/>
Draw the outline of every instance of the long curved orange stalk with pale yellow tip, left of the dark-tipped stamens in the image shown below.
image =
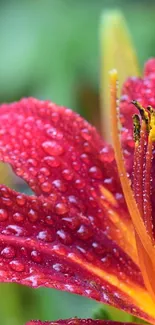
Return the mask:
<path id="1" fill-rule="evenodd" d="M 128 206 L 132 222 L 134 224 L 135 230 L 141 239 L 141 242 L 147 251 L 150 259 L 155 261 L 155 247 L 152 245 L 152 240 L 147 233 L 145 228 L 143 218 L 141 217 L 140 211 L 137 207 L 129 179 L 127 177 L 125 163 L 123 159 L 122 148 L 119 138 L 119 129 L 118 129 L 118 115 L 117 115 L 117 71 L 112 70 L 110 72 L 110 86 L 111 86 L 111 119 L 112 119 L 112 137 L 113 137 L 113 146 L 115 151 L 115 158 L 118 167 L 118 173 L 120 176 L 120 182 L 123 189 L 124 197 Z"/>

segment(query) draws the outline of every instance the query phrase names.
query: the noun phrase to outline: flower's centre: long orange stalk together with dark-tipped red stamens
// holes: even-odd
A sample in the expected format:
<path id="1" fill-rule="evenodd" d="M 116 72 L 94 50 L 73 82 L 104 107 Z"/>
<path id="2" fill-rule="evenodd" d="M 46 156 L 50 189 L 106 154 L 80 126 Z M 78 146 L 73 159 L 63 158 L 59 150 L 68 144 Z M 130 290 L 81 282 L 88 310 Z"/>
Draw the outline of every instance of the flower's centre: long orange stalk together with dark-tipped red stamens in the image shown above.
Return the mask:
<path id="1" fill-rule="evenodd" d="M 135 230 L 137 253 L 141 273 L 155 301 L 155 246 L 152 232 L 151 165 L 152 143 L 155 142 L 155 111 L 144 109 L 138 102 L 140 116 L 135 114 L 134 123 L 134 172 L 133 188 L 127 176 L 120 142 L 119 117 L 117 113 L 117 71 L 110 72 L 112 138 L 120 182 L 129 214 Z"/>

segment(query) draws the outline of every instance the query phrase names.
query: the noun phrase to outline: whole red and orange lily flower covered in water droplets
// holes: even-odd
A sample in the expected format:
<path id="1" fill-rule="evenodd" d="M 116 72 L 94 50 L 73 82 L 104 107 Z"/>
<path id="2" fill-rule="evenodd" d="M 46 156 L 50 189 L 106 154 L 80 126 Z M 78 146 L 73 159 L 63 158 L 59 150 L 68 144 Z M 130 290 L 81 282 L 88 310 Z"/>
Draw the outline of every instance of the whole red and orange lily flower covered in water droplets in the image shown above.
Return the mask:
<path id="1" fill-rule="evenodd" d="M 70 291 L 155 324 L 154 111 L 135 102 L 142 118 L 134 118 L 134 142 L 132 115 L 137 109 L 131 104 L 137 100 L 145 108 L 155 107 L 154 91 L 155 60 L 150 60 L 144 79 L 125 83 L 120 101 L 122 145 L 133 190 L 117 136 L 115 84 L 116 161 L 95 128 L 69 109 L 34 98 L 1 105 L 0 159 L 35 193 L 0 186 L 1 282 Z"/>

